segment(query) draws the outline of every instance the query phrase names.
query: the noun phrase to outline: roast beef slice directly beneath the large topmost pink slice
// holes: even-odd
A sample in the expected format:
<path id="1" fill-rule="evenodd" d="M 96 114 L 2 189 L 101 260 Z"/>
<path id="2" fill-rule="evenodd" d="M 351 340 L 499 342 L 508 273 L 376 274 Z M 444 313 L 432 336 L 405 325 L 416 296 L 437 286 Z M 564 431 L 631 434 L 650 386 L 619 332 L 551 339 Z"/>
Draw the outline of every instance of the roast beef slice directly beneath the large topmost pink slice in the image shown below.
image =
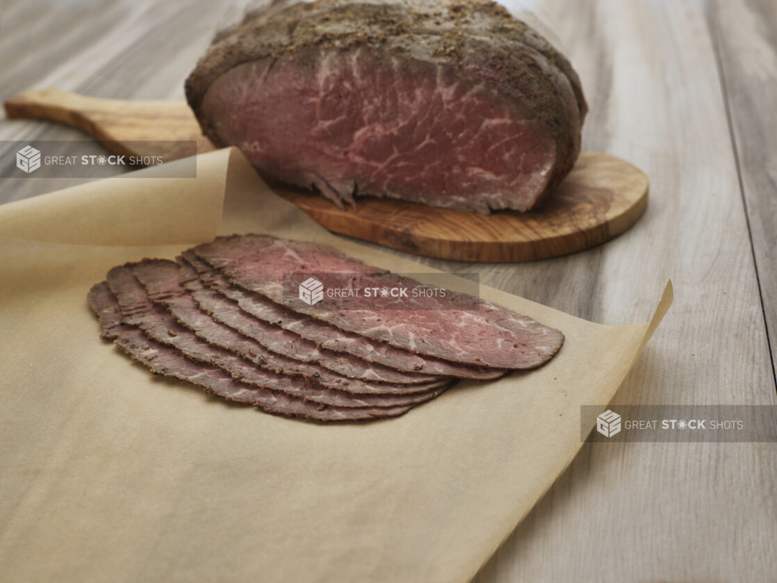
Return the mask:
<path id="1" fill-rule="evenodd" d="M 221 272 L 197 257 L 197 253 L 192 250 L 184 252 L 181 259 L 182 262 L 190 264 L 197 270 L 205 285 L 219 292 L 225 298 L 231 299 L 239 306 L 239 310 L 235 312 L 235 310 L 226 308 L 208 308 L 202 302 L 200 302 L 200 307 L 211 312 L 215 319 L 241 330 L 248 336 L 255 337 L 253 327 L 256 326 L 256 319 L 259 319 L 298 334 L 326 351 L 351 354 L 361 360 L 402 371 L 419 371 L 473 380 L 499 379 L 505 373 L 503 369 L 460 365 L 455 362 L 430 358 L 395 348 L 385 342 L 376 342 L 356 333 L 345 332 L 310 316 L 305 316 L 305 314 L 292 312 L 263 295 L 230 285 Z M 199 296 L 195 295 L 195 297 L 199 302 Z M 341 355 L 340 358 L 345 359 L 346 357 Z"/>

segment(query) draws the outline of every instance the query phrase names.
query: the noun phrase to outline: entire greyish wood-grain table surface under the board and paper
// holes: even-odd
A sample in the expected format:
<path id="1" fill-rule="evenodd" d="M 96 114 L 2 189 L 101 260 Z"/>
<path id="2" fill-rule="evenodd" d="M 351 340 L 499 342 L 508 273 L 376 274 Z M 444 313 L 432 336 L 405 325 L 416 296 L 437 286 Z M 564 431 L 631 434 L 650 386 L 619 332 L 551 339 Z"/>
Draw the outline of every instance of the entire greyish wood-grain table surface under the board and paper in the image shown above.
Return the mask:
<path id="1" fill-rule="evenodd" d="M 645 321 L 671 278 L 674 305 L 615 403 L 777 404 L 777 3 L 507 3 L 556 33 L 591 106 L 584 148 L 643 169 L 650 205 L 569 257 L 423 262 L 607 324 Z M 2 0 L 0 97 L 181 99 L 242 9 Z M 81 138 L 0 120 L 0 140 Z M 86 180 L 3 179 L 0 202 Z M 475 581 L 777 581 L 777 444 L 586 444 Z"/>

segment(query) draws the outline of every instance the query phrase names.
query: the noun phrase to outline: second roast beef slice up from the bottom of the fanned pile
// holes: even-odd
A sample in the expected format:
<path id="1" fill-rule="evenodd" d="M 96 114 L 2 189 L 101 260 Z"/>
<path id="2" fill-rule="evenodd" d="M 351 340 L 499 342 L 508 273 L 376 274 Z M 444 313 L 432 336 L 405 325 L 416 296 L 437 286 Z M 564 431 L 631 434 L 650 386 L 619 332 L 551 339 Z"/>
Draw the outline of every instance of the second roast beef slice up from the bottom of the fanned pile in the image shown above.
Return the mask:
<path id="1" fill-rule="evenodd" d="M 191 330 L 181 326 L 172 315 L 160 305 L 148 299 L 145 288 L 134 277 L 134 264 L 114 267 L 108 272 L 108 285 L 116 296 L 123 322 L 138 326 L 148 337 L 161 344 L 176 347 L 184 356 L 193 361 L 204 362 L 223 368 L 233 379 L 264 389 L 272 389 L 289 396 L 323 405 L 336 407 L 395 407 L 405 406 L 406 401 L 413 404 L 429 400 L 444 389 L 436 389 L 418 396 L 402 395 L 352 395 L 332 389 L 326 389 L 314 382 L 298 377 L 278 375 L 274 372 L 256 368 L 232 352 L 211 346 L 200 340 Z M 423 396 L 426 399 L 423 399 Z"/>

